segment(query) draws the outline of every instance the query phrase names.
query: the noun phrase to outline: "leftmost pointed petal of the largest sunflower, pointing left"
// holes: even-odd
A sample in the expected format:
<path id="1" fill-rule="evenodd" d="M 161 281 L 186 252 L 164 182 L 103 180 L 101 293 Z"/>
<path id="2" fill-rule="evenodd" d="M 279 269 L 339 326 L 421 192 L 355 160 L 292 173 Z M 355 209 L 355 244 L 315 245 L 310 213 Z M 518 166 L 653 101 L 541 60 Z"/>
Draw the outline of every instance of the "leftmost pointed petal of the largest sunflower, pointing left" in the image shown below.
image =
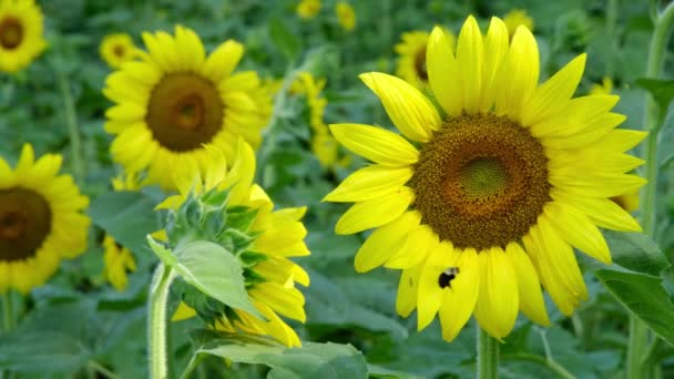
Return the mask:
<path id="1" fill-rule="evenodd" d="M 360 168 L 347 176 L 324 202 L 361 202 L 387 195 L 412 177 L 410 166 L 387 167 L 379 164 Z"/>

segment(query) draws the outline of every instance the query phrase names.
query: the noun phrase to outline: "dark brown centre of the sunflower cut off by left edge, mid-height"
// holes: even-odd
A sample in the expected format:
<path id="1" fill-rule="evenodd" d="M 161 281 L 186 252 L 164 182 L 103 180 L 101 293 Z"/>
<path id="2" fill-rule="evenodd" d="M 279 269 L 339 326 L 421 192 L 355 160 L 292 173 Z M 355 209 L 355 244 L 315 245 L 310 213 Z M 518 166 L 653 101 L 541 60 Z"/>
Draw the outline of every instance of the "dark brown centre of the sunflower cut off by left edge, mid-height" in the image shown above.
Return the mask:
<path id="1" fill-rule="evenodd" d="M 51 216 L 38 193 L 21 187 L 0 191 L 0 262 L 34 256 L 51 232 Z"/>

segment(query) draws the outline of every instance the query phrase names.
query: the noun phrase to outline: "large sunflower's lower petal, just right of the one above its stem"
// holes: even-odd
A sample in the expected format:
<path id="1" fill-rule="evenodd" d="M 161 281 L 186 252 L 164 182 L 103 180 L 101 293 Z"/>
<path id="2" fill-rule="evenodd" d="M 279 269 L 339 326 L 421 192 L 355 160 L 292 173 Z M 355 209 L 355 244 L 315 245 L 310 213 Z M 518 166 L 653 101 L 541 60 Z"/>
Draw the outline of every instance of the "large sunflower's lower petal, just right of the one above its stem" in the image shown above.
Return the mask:
<path id="1" fill-rule="evenodd" d="M 520 296 L 520 310 L 534 322 L 550 326 L 543 291 L 535 268 L 520 244 L 510 243 L 506 247 L 506 256 L 518 279 L 518 294 Z"/>

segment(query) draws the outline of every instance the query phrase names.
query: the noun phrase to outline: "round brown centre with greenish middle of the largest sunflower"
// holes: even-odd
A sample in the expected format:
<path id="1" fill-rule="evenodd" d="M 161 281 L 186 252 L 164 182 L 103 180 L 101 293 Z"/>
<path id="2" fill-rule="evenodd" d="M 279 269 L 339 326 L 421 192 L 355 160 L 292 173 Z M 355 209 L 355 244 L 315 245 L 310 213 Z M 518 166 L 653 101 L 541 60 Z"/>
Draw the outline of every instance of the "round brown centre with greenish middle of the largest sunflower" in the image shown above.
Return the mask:
<path id="1" fill-rule="evenodd" d="M 448 120 L 421 148 L 410 185 L 422 224 L 478 252 L 519 240 L 551 199 L 541 143 L 493 114 Z"/>

